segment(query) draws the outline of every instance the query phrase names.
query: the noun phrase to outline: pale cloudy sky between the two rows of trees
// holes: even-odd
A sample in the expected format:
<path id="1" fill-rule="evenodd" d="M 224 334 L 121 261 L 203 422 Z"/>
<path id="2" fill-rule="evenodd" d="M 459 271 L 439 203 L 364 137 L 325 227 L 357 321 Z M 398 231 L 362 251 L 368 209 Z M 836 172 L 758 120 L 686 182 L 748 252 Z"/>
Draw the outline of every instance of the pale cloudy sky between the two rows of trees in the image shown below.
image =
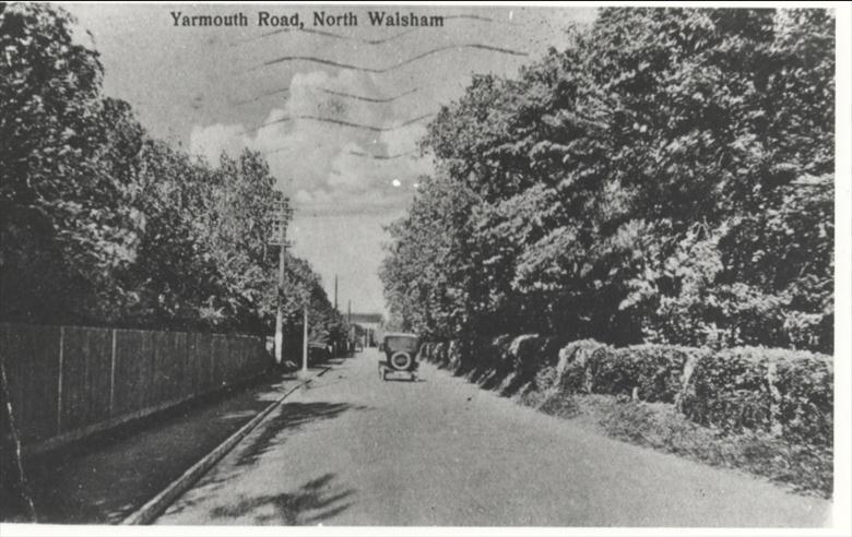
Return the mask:
<path id="1" fill-rule="evenodd" d="M 434 170 L 417 141 L 474 73 L 512 76 L 563 49 L 589 8 L 330 4 L 64 4 L 75 38 L 104 64 L 104 93 L 191 154 L 262 152 L 292 200 L 295 254 L 339 306 L 384 312 L 378 270 L 418 178 Z M 442 27 L 372 26 L 368 11 L 440 15 Z M 175 14 L 245 14 L 245 27 L 175 25 Z M 260 12 L 303 27 L 260 26 Z M 315 25 L 318 14 L 348 25 Z M 269 20 L 268 19 L 268 20 Z M 328 16 L 327 16 L 328 19 Z M 351 24 L 357 19 L 357 25 Z M 180 19 L 179 19 L 180 20 Z"/>

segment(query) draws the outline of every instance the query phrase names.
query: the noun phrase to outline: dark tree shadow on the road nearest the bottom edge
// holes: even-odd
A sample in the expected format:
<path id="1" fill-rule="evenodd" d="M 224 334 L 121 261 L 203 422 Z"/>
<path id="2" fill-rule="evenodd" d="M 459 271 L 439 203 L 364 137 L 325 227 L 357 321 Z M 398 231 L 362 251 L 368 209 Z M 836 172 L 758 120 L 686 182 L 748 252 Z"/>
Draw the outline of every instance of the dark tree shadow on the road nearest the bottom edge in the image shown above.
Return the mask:
<path id="1" fill-rule="evenodd" d="M 288 526 L 319 524 L 352 505 L 352 502 L 344 502 L 344 500 L 355 491 L 342 489 L 335 486 L 333 480 L 334 474 L 326 474 L 306 482 L 295 492 L 244 499 L 233 505 L 213 509 L 210 516 L 213 520 L 239 518 L 261 511 L 255 515 L 255 524 Z"/>

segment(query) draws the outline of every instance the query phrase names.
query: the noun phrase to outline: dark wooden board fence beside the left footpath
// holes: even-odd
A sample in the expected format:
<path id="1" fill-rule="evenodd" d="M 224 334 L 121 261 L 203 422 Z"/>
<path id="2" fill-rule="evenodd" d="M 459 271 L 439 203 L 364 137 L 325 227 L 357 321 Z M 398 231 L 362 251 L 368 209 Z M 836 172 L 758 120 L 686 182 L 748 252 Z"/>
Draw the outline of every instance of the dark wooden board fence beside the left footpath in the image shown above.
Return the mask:
<path id="1" fill-rule="evenodd" d="M 0 323 L 0 359 L 28 453 L 267 371 L 260 337 Z"/>

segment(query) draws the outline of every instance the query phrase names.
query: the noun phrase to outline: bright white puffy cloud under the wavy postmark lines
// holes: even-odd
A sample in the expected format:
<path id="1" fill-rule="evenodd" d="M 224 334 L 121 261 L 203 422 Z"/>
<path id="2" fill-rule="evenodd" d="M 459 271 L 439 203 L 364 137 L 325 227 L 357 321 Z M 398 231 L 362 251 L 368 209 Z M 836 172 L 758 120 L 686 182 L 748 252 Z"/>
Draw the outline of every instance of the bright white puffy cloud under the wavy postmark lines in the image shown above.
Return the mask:
<path id="1" fill-rule="evenodd" d="M 194 127 L 190 151 L 214 164 L 223 151 L 230 156 L 244 147 L 264 153 L 279 180 L 277 188 L 293 198 L 297 210 L 333 213 L 404 206 L 417 177 L 431 171 L 431 160 L 416 153 L 393 159 L 363 155 L 398 155 L 416 150 L 425 133 L 423 123 L 375 132 L 297 117 L 390 127 L 410 119 L 405 104 L 376 104 L 322 91 L 383 94 L 374 75 L 353 71 L 336 75 L 322 71 L 297 73 L 289 88 L 286 105 L 269 110 L 265 127 Z M 283 118 L 296 119 L 279 121 Z"/>

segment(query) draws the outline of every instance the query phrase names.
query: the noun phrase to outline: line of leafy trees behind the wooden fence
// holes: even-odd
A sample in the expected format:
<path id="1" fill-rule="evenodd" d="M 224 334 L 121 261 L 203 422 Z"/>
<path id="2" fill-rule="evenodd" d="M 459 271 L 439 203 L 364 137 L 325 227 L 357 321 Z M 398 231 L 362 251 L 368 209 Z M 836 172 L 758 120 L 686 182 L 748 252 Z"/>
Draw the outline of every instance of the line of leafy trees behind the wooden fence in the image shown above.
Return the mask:
<path id="1" fill-rule="evenodd" d="M 0 13 L 0 319 L 271 334 L 267 162 L 214 166 L 152 138 L 102 94 L 73 23 L 46 4 Z M 294 337 L 305 300 L 313 337 L 345 333 L 308 263 L 289 255 L 286 276 Z"/>

